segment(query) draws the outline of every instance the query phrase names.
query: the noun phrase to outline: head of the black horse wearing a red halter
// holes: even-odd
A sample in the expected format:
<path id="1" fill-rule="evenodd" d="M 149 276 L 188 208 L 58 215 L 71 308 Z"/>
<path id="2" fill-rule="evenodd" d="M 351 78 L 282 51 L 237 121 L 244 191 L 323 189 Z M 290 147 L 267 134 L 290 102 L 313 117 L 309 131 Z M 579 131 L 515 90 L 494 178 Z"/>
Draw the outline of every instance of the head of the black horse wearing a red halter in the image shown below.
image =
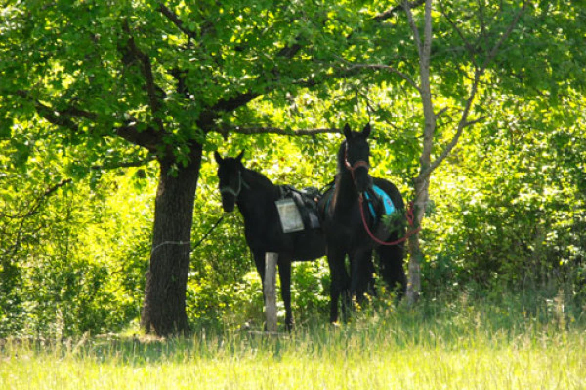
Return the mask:
<path id="1" fill-rule="evenodd" d="M 346 169 L 352 174 L 352 179 L 357 191 L 362 194 L 372 185 L 372 178 L 368 174 L 370 148 L 368 136 L 370 134 L 370 123 L 362 129 L 362 132 L 353 132 L 346 123 L 344 136 L 346 142 L 340 149 L 340 157 L 343 158 L 341 169 Z"/>

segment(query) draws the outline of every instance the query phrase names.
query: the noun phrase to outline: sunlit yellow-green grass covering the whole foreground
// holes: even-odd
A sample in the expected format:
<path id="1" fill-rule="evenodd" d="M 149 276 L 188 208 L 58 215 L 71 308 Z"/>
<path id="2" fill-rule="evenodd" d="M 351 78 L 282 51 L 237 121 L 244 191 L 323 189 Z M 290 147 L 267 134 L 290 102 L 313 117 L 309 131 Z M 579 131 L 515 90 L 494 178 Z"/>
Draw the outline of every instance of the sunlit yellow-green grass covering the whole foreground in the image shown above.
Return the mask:
<path id="1" fill-rule="evenodd" d="M 6 340 L 0 389 L 586 389 L 586 327 L 563 306 L 468 299 L 267 337 Z"/>

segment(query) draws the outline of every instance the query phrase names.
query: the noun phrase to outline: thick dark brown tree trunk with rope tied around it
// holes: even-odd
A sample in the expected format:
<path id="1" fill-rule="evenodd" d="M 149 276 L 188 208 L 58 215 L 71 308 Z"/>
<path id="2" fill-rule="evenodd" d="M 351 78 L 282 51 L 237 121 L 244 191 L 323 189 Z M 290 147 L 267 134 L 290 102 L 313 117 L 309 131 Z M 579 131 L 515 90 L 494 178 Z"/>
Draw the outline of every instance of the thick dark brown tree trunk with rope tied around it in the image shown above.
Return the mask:
<path id="1" fill-rule="evenodd" d="M 189 273 L 193 202 L 202 147 L 192 146 L 190 163 L 172 172 L 172 161 L 159 161 L 155 223 L 141 326 L 159 336 L 189 332 L 185 297 Z"/>

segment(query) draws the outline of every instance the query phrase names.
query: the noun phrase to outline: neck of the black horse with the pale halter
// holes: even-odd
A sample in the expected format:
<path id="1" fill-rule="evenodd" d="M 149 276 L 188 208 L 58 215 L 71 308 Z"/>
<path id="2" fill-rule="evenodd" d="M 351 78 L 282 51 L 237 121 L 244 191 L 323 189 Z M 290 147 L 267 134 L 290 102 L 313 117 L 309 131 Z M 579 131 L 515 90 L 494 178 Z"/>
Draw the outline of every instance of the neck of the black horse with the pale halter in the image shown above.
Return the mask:
<path id="1" fill-rule="evenodd" d="M 252 171 L 243 171 L 242 188 L 238 196 L 237 205 L 244 217 L 245 223 L 263 222 L 265 208 L 278 199 L 279 188 L 270 181 L 258 180 Z"/>

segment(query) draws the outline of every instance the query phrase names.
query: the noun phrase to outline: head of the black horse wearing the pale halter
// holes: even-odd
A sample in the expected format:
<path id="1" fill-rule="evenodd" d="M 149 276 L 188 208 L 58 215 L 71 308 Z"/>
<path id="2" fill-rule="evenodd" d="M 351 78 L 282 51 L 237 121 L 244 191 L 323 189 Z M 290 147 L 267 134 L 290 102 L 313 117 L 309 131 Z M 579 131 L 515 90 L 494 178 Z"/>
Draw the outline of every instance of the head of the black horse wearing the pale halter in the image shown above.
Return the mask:
<path id="1" fill-rule="evenodd" d="M 242 156 L 244 151 L 237 157 L 222 158 L 219 153 L 214 152 L 214 158 L 218 164 L 218 179 L 220 194 L 222 194 L 222 208 L 226 212 L 234 211 L 234 205 L 242 191 Z"/>

